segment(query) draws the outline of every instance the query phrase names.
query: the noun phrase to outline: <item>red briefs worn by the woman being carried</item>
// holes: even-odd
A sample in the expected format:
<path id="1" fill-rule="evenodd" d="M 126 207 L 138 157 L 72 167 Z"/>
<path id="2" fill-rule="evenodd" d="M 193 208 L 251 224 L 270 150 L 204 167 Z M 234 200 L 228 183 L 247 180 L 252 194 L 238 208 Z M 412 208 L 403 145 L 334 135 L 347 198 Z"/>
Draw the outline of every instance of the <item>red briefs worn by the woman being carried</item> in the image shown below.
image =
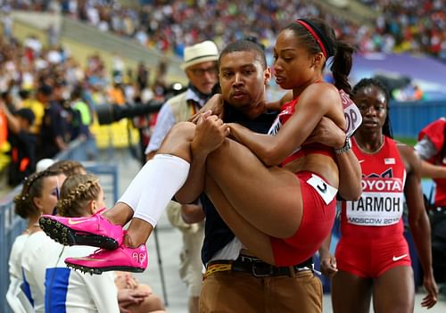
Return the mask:
<path id="1" fill-rule="evenodd" d="M 307 183 L 313 173 L 296 173 L 301 183 L 302 219 L 297 232 L 286 239 L 270 237 L 277 266 L 292 266 L 309 259 L 331 232 L 336 212 L 336 198 L 326 204 L 318 192 Z M 322 178 L 322 177 L 321 177 Z"/>

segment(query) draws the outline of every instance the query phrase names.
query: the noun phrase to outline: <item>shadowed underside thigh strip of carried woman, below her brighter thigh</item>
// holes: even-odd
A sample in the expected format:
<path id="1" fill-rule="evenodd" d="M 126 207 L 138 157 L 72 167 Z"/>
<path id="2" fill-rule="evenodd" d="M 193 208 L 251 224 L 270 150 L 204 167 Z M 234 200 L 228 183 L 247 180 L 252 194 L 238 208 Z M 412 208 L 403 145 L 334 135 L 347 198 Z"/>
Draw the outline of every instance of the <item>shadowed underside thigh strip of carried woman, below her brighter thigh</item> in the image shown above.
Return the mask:
<path id="1" fill-rule="evenodd" d="M 243 218 L 227 201 L 225 195 L 219 189 L 219 185 L 207 176 L 206 194 L 209 195 L 219 215 L 227 226 L 231 228 L 235 236 L 252 251 L 258 258 L 265 262 L 274 264 L 274 255 L 271 249 L 269 236 L 262 233 L 258 228 L 253 227 L 249 221 Z"/>

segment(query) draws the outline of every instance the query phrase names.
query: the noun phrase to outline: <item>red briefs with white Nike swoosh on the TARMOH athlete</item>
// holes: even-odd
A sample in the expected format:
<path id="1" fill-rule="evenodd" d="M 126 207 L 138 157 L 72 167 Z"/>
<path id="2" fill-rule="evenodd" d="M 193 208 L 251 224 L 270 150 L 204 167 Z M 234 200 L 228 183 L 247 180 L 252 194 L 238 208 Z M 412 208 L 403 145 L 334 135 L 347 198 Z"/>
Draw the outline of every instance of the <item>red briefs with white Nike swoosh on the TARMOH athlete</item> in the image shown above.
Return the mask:
<path id="1" fill-rule="evenodd" d="M 341 238 L 335 257 L 337 268 L 365 278 L 376 278 L 391 268 L 411 265 L 409 246 L 402 235 L 393 240 Z"/>

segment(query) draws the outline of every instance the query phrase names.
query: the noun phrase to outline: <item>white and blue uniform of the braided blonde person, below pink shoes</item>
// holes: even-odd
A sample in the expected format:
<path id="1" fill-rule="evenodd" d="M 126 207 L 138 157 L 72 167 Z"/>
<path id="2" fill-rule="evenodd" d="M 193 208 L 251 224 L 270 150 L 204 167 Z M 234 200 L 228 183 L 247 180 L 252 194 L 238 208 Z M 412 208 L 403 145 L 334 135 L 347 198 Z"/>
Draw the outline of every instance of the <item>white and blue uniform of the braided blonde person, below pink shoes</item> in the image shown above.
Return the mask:
<path id="1" fill-rule="evenodd" d="M 44 232 L 29 235 L 23 248 L 22 289 L 37 313 L 119 313 L 114 272 L 84 275 L 67 268 L 67 257 L 85 256 L 94 247 L 64 247 Z"/>

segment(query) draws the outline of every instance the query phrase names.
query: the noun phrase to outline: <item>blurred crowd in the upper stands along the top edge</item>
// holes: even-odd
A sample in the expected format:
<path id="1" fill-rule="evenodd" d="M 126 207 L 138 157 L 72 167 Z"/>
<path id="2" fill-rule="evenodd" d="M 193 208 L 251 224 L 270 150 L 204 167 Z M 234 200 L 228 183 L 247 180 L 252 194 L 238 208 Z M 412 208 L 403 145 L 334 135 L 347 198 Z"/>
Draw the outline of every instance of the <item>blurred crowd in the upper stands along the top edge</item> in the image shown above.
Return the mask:
<path id="1" fill-rule="evenodd" d="M 361 1 L 379 12 L 375 22 L 359 25 L 345 21 L 317 4 L 301 0 L 249 0 L 236 4 L 218 0 L 140 0 L 132 8 L 116 0 L 14 1 L 12 5 L 16 9 L 62 12 L 103 31 L 133 37 L 148 48 L 179 56 L 185 46 L 206 39 L 221 47 L 253 34 L 260 37 L 270 54 L 274 37 L 285 23 L 299 16 L 315 16 L 327 21 L 340 39 L 357 45 L 359 52 L 421 52 L 446 61 L 444 0 Z"/>

